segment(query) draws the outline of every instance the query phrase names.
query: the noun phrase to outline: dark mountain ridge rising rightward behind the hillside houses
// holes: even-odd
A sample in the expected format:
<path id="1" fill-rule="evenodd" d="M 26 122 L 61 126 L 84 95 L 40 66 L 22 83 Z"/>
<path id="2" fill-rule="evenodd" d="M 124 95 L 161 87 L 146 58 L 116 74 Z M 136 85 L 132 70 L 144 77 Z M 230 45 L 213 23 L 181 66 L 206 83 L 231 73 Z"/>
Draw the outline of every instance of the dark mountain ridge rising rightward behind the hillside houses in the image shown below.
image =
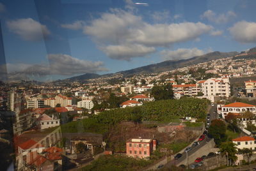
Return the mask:
<path id="1" fill-rule="evenodd" d="M 147 66 L 141 66 L 139 68 L 134 68 L 132 70 L 120 71 L 118 73 L 122 73 L 125 76 L 135 75 L 139 73 L 157 73 L 162 71 L 170 71 L 176 68 L 182 68 L 184 66 L 189 66 L 198 63 L 204 63 L 207 61 L 212 61 L 216 59 L 221 59 L 224 57 L 231 57 L 238 54 L 238 52 L 211 52 L 209 54 L 204 54 L 202 56 L 195 56 L 189 59 L 181 59 L 181 60 L 169 60 L 164 61 L 162 63 L 150 64 Z"/>

